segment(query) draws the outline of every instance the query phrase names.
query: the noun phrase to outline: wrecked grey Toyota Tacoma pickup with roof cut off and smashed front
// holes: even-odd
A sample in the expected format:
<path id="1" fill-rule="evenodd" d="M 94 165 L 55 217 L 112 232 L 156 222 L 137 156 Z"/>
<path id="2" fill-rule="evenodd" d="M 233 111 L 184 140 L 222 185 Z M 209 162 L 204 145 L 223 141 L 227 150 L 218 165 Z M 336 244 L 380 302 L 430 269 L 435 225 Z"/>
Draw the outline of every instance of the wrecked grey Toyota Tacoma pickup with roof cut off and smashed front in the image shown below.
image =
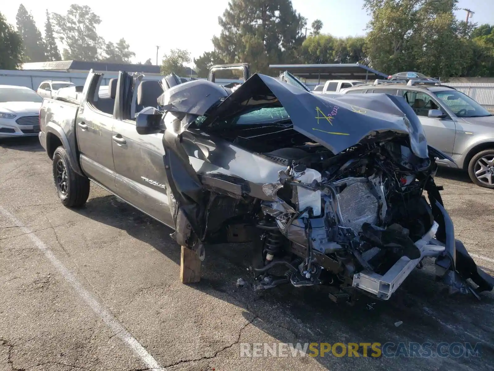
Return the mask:
<path id="1" fill-rule="evenodd" d="M 73 119 L 77 144 L 68 158 L 77 169 L 67 161 L 59 171 L 63 157 L 53 156 L 48 139 L 56 114 L 41 109 L 55 184 L 69 182 L 66 195 L 79 190 L 72 178 L 89 178 L 173 228 L 201 259 L 207 244 L 253 241 L 257 258 L 246 267 L 258 290 L 326 285 L 334 301 L 358 292 L 387 300 L 425 257 L 436 259 L 452 291 L 479 298 L 493 289 L 494 278 L 455 239 L 434 184 L 435 159 L 448 157 L 427 145 L 403 98 L 323 97 L 289 76 L 248 78 L 245 65 L 225 68 L 245 70 L 233 92 L 174 75 L 160 92 L 145 91 L 142 77 L 121 72 L 113 122 L 104 125 L 93 73 Z M 87 131 L 100 142 L 83 147 Z"/>

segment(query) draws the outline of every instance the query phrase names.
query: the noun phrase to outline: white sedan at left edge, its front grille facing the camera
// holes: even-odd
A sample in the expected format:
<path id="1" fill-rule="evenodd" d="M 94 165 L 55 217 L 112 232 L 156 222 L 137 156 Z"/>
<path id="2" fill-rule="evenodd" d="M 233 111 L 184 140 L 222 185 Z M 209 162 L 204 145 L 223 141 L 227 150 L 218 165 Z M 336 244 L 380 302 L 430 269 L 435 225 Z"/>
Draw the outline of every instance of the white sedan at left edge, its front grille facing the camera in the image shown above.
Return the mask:
<path id="1" fill-rule="evenodd" d="M 29 88 L 0 85 L 0 138 L 38 135 L 42 100 Z"/>

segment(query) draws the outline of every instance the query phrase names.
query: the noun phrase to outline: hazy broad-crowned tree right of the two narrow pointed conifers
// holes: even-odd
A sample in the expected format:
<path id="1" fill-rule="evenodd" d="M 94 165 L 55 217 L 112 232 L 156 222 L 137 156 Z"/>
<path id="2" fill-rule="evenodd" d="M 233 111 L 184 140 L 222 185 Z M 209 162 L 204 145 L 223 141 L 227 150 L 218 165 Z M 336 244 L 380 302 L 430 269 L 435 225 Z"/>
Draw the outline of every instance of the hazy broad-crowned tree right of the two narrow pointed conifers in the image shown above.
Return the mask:
<path id="1" fill-rule="evenodd" d="M 53 23 L 59 40 L 66 46 L 62 51 L 64 60 L 99 59 L 99 51 L 105 46 L 96 31 L 101 19 L 89 6 L 72 4 L 65 15 L 53 13 Z"/>

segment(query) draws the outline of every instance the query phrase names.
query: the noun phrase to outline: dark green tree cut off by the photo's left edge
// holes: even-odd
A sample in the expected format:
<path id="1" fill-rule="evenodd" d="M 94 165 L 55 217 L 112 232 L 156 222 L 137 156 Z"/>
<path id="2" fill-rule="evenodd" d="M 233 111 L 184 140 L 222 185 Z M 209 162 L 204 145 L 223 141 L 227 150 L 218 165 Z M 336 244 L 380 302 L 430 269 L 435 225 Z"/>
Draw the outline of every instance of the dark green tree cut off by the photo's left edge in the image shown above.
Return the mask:
<path id="1" fill-rule="evenodd" d="M 21 36 L 0 13 L 0 70 L 20 68 L 23 59 L 22 51 Z"/>

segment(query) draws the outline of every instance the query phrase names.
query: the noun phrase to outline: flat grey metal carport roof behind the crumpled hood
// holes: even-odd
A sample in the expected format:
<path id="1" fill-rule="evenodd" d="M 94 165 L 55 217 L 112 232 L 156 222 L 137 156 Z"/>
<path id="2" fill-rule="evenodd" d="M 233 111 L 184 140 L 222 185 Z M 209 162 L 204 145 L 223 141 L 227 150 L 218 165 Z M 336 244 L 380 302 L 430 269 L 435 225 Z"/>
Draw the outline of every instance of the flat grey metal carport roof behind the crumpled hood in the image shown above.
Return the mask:
<path id="1" fill-rule="evenodd" d="M 288 71 L 297 77 L 321 80 L 375 80 L 388 75 L 360 63 L 338 64 L 270 64 L 279 72 Z"/>

